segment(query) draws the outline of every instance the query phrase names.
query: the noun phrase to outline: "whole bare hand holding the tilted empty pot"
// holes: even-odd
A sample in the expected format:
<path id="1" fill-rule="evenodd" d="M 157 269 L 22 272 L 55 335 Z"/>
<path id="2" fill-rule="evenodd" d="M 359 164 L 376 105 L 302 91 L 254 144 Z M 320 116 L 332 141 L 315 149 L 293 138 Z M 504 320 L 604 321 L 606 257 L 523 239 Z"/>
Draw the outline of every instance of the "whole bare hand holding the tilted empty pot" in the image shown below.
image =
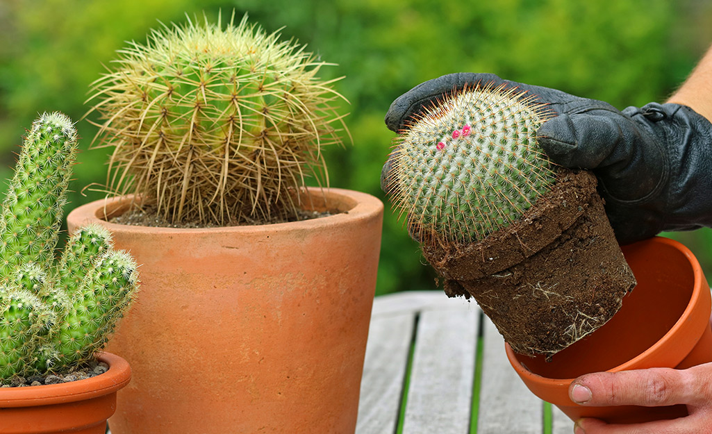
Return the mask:
<path id="1" fill-rule="evenodd" d="M 671 406 L 685 404 L 689 416 L 648 423 L 613 425 L 593 418 L 577 421 L 575 434 L 712 433 L 712 363 L 689 369 L 652 368 L 587 374 L 569 388 L 582 406 Z"/>

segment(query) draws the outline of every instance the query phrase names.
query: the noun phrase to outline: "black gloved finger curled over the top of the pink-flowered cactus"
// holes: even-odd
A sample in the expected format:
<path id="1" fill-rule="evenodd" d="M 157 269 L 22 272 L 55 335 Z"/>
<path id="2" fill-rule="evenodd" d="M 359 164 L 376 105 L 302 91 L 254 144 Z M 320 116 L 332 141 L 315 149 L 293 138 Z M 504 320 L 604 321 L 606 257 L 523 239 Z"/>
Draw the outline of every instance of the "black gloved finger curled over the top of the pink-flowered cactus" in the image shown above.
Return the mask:
<path id="1" fill-rule="evenodd" d="M 428 80 L 398 97 L 386 113 L 386 125 L 393 132 L 403 129 L 407 120 L 417 115 L 424 107 L 430 107 L 443 95 L 462 90 L 466 85 L 476 83 L 504 83 L 494 74 L 455 73 Z"/>

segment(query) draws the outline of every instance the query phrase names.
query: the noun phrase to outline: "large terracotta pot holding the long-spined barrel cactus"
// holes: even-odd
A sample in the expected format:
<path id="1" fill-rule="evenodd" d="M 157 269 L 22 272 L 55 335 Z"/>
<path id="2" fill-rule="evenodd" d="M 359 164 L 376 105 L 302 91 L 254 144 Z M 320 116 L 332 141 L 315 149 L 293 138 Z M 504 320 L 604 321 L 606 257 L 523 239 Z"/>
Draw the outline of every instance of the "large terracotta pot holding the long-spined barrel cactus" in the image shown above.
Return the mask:
<path id="1" fill-rule="evenodd" d="M 142 287 L 110 343 L 134 371 L 113 434 L 353 433 L 375 292 L 383 205 L 330 189 L 342 211 L 295 223 L 174 229 L 101 222 L 140 265 Z"/>

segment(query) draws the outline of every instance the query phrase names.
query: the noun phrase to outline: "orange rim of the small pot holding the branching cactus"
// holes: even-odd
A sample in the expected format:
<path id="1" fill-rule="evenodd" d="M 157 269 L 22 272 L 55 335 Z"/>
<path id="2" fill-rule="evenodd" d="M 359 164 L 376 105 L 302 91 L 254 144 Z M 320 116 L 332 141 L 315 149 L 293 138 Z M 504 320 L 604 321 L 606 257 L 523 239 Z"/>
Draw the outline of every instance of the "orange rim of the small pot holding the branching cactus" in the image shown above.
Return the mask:
<path id="1" fill-rule="evenodd" d="M 85 401 L 109 395 L 131 381 L 129 363 L 116 354 L 100 352 L 97 359 L 109 365 L 108 371 L 90 379 L 42 386 L 0 388 L 0 408 L 51 406 Z"/>

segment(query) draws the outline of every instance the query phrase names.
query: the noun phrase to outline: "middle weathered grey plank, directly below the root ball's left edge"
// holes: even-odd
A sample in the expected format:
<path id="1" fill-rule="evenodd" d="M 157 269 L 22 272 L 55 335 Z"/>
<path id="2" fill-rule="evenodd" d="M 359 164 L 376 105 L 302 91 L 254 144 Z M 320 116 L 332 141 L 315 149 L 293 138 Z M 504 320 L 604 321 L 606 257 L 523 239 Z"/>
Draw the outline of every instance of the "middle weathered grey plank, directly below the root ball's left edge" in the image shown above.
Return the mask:
<path id="1" fill-rule="evenodd" d="M 463 305 L 422 310 L 404 434 L 469 432 L 478 314 L 478 308 Z"/>

